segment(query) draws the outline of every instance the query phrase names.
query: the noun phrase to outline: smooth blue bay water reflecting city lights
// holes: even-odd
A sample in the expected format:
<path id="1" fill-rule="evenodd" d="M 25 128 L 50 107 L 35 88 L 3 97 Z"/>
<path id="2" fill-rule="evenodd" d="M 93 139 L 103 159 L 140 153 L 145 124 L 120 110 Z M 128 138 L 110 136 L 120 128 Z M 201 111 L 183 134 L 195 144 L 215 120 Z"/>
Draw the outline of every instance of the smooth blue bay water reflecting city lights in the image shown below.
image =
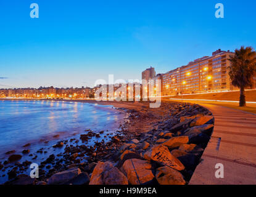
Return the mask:
<path id="1" fill-rule="evenodd" d="M 91 103 L 0 100 L 0 161 L 7 160 L 6 151 L 15 150 L 15 154 L 23 155 L 21 151 L 24 149 L 30 149 L 34 154 L 39 148 L 51 147 L 47 148 L 47 153 L 38 156 L 35 161 L 39 162 L 56 151 L 52 148 L 54 143 L 74 136 L 79 139 L 85 129 L 114 134 L 123 117 L 112 106 Z M 55 135 L 59 137 L 56 139 Z M 26 143 L 31 143 L 31 146 L 23 148 Z M 20 162 L 25 159 L 31 161 L 31 157 L 23 155 Z"/>

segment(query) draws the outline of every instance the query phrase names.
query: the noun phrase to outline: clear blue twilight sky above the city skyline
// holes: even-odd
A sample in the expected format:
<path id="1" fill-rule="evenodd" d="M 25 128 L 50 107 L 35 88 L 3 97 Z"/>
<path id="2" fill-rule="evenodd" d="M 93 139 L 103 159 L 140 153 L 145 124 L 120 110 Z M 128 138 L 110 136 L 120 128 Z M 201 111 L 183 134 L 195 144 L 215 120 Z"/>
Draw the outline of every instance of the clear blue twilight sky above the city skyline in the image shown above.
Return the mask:
<path id="1" fill-rule="evenodd" d="M 30 18 L 30 4 L 39 18 Z M 215 18 L 215 4 L 225 18 Z M 0 88 L 141 79 L 214 50 L 256 47 L 255 0 L 1 0 Z"/>

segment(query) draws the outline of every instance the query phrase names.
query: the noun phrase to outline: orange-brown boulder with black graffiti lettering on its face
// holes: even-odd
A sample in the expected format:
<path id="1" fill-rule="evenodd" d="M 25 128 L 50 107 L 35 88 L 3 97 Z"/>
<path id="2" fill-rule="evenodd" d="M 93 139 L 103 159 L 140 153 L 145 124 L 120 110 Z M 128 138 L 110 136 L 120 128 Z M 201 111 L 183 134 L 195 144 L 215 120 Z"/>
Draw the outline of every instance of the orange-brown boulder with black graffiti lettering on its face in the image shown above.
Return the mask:
<path id="1" fill-rule="evenodd" d="M 157 161 L 178 171 L 182 171 L 185 168 L 183 164 L 175 158 L 175 156 L 171 155 L 168 148 L 164 145 L 155 145 L 151 150 L 144 153 L 144 158 Z"/>

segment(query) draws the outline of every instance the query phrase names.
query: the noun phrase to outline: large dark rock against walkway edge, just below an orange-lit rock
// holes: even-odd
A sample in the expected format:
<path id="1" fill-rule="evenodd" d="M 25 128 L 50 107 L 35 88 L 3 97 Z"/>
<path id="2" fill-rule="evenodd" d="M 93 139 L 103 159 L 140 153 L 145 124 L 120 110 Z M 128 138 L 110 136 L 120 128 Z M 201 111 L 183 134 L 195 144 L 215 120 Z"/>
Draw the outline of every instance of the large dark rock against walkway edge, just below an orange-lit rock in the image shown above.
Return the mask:
<path id="1" fill-rule="evenodd" d="M 187 129 L 183 135 L 189 137 L 189 143 L 204 143 L 209 141 L 212 130 L 213 124 L 204 124 Z"/>

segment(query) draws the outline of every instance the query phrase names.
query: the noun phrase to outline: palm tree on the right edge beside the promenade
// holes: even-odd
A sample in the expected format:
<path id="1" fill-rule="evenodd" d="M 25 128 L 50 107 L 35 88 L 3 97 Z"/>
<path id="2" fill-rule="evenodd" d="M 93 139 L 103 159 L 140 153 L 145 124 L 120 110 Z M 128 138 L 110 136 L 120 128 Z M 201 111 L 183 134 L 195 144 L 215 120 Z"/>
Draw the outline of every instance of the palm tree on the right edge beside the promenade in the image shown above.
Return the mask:
<path id="1" fill-rule="evenodd" d="M 256 52 L 252 47 L 241 47 L 236 49 L 234 55 L 229 56 L 231 66 L 229 66 L 229 76 L 232 85 L 239 87 L 239 106 L 246 106 L 246 95 L 244 89 L 252 86 L 256 73 Z"/>

